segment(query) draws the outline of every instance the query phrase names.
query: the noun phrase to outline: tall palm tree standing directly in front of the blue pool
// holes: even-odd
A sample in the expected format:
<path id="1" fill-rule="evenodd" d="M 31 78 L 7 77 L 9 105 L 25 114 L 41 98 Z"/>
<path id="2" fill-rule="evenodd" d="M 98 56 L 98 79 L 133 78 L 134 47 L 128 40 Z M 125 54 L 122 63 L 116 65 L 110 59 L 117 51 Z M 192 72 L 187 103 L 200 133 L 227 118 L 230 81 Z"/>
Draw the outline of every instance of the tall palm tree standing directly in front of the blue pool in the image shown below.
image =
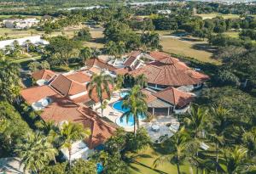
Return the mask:
<path id="1" fill-rule="evenodd" d="M 132 87 L 131 91 L 125 96 L 123 101 L 123 108 L 128 109 L 122 116 L 122 119 L 129 121 L 130 116 L 133 116 L 134 136 L 136 135 L 136 127 L 139 128 L 139 116 L 145 115 L 148 117 L 148 104 L 146 102 L 146 95 L 142 93 L 140 86 Z"/>

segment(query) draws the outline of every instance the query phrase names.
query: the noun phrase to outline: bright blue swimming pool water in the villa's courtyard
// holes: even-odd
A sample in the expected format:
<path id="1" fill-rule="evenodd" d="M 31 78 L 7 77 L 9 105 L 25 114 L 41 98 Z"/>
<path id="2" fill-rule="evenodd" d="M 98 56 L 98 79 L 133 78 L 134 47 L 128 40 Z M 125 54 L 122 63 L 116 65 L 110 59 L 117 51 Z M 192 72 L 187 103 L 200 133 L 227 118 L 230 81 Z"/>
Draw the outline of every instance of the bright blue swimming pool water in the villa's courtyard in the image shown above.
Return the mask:
<path id="1" fill-rule="evenodd" d="M 114 103 L 113 104 L 113 109 L 116 109 L 118 110 L 119 112 L 127 112 L 129 111 L 129 109 L 122 109 L 122 104 L 123 104 L 123 101 L 122 100 L 119 100 L 118 102 Z M 145 115 L 139 115 L 138 116 L 139 120 L 143 120 L 145 119 Z M 128 122 L 126 121 L 126 118 L 124 117 L 124 119 L 121 119 L 121 118 L 118 118 L 116 120 L 116 124 L 118 124 L 119 126 L 134 126 L 134 118 L 133 118 L 133 115 L 130 115 L 129 116 L 129 119 L 128 119 Z"/>

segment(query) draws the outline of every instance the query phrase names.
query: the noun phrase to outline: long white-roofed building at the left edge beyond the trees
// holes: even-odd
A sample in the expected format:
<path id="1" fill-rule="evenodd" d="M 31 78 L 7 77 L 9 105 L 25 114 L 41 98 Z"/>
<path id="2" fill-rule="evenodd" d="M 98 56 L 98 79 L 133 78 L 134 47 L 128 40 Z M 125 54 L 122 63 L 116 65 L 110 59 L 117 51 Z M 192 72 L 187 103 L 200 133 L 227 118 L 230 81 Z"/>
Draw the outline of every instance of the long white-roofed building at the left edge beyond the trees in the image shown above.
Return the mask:
<path id="1" fill-rule="evenodd" d="M 47 45 L 49 44 L 48 41 L 41 39 L 41 36 L 27 36 L 19 39 L 10 39 L 5 41 L 0 41 L 0 48 L 4 49 L 7 45 L 13 46 L 13 43 L 17 41 L 20 46 L 26 47 L 26 41 L 30 41 L 32 44 L 35 45 Z"/>

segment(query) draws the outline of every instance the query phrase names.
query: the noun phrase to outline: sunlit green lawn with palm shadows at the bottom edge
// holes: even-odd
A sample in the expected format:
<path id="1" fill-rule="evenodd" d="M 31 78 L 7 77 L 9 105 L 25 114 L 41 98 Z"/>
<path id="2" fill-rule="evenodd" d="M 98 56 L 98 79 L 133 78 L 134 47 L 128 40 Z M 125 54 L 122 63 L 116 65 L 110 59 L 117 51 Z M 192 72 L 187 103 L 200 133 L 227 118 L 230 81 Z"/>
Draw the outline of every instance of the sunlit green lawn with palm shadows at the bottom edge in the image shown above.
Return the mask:
<path id="1" fill-rule="evenodd" d="M 154 168 L 154 160 L 160 156 L 154 149 L 148 147 L 138 154 L 143 154 L 143 156 L 135 158 L 135 162 L 129 164 L 131 174 L 177 174 L 177 166 L 172 165 L 169 162 L 164 162 L 160 166 Z M 189 174 L 191 171 L 195 170 L 192 170 L 189 164 L 187 164 L 181 166 L 181 171 Z"/>

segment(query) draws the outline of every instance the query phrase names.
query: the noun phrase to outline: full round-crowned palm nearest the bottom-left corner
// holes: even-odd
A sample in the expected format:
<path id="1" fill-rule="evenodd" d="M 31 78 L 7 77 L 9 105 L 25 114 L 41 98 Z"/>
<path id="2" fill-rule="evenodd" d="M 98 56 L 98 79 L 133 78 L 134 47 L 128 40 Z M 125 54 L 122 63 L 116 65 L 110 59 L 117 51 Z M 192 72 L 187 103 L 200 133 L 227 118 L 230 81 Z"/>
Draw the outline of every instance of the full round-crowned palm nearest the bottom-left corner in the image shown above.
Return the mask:
<path id="1" fill-rule="evenodd" d="M 24 171 L 38 172 L 55 160 L 57 150 L 48 142 L 40 132 L 26 135 L 26 138 L 17 145 L 15 150 L 20 156 L 20 163 L 24 165 Z"/>

